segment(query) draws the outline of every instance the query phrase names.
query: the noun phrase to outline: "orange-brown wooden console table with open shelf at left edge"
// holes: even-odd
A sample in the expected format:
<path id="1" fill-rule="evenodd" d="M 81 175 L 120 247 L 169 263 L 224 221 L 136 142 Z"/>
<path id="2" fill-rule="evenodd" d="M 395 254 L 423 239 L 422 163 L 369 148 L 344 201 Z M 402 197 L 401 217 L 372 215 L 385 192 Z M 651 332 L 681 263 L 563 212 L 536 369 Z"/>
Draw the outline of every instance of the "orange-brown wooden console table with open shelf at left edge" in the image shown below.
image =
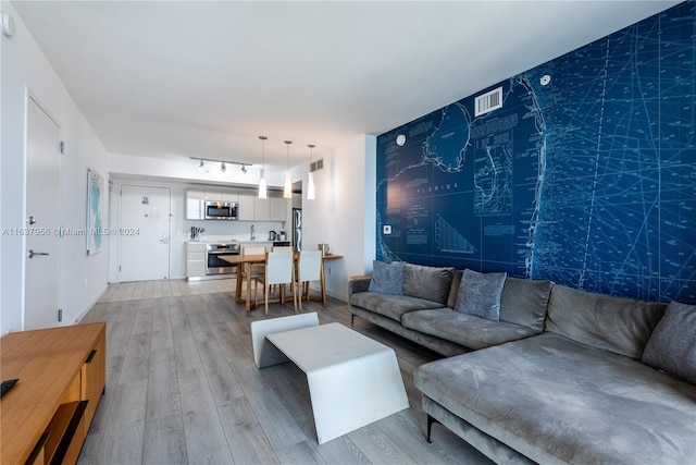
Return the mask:
<path id="1" fill-rule="evenodd" d="M 22 331 L 0 339 L 0 462 L 74 464 L 107 381 L 107 323 Z"/>

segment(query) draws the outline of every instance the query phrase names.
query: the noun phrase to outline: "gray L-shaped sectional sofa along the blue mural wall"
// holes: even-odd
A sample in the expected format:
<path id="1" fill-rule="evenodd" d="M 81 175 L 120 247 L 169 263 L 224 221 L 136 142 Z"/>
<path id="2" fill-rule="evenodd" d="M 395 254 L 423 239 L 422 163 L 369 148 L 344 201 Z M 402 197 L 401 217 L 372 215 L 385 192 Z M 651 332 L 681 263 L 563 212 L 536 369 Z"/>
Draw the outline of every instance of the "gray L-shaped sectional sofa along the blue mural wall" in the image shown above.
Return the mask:
<path id="1" fill-rule="evenodd" d="M 495 321 L 453 310 L 461 277 L 349 283 L 352 318 L 446 356 L 414 374 L 428 441 L 439 423 L 497 463 L 696 463 L 696 307 L 507 278 Z"/>

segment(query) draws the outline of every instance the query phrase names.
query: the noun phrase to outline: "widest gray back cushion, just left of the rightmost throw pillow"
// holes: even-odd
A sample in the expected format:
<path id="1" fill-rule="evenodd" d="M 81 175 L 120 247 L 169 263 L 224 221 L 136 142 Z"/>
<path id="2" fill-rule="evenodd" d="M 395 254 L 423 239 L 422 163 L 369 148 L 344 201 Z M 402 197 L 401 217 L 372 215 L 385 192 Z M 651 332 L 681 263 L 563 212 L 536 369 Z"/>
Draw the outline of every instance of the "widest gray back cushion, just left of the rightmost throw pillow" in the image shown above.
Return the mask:
<path id="1" fill-rule="evenodd" d="M 573 341 L 639 359 L 667 304 L 592 294 L 555 285 L 546 330 Z"/>

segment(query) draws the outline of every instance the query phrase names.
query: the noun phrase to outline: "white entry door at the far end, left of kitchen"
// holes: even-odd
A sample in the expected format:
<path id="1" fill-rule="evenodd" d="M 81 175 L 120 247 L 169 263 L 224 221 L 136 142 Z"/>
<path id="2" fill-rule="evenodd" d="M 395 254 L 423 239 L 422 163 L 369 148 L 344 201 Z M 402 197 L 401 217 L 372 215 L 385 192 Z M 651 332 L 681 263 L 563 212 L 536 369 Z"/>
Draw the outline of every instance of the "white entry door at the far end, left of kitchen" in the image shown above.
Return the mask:
<path id="1" fill-rule="evenodd" d="M 170 278 L 169 187 L 121 186 L 119 280 Z"/>

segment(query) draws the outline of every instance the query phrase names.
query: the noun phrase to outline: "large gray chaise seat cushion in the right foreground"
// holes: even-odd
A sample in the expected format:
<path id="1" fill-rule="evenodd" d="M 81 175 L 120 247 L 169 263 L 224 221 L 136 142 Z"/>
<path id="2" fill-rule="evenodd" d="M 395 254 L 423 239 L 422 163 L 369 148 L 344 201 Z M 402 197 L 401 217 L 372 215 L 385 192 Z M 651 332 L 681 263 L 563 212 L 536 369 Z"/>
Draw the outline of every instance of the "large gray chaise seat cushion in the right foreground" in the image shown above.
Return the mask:
<path id="1" fill-rule="evenodd" d="M 683 464 L 696 387 L 554 333 L 432 362 L 415 387 L 537 463 Z"/>

